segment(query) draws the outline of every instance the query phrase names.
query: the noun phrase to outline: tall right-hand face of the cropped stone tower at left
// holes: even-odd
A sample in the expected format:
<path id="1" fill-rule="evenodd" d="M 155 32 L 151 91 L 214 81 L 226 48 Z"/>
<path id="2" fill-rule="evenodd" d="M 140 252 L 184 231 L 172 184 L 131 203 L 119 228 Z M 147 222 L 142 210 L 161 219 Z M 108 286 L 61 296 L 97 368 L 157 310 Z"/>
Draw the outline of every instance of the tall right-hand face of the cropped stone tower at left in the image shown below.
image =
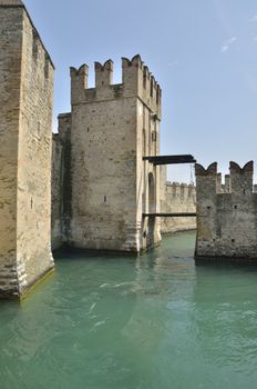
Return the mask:
<path id="1" fill-rule="evenodd" d="M 50 246 L 53 66 L 25 11 L 21 64 L 17 255 L 30 286 L 53 267 Z"/>

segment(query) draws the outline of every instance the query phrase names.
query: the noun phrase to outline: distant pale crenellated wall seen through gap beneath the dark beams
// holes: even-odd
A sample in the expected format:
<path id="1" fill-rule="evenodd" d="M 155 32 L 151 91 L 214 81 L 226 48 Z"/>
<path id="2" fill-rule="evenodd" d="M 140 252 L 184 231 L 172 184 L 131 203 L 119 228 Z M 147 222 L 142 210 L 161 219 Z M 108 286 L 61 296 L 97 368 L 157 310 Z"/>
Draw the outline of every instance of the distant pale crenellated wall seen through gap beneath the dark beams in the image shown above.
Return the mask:
<path id="1" fill-rule="evenodd" d="M 166 167 L 161 168 L 161 212 L 195 213 L 196 191 L 193 184 L 166 181 Z M 162 235 L 196 229 L 196 218 L 162 218 Z"/>

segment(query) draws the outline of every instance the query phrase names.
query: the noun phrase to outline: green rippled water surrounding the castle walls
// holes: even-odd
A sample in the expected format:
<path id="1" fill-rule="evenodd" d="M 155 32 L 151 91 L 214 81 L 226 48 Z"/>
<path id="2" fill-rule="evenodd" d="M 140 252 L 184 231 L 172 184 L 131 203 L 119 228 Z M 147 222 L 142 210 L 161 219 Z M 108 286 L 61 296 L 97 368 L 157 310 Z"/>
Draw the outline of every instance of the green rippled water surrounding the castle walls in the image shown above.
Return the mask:
<path id="1" fill-rule="evenodd" d="M 257 271 L 195 267 L 194 241 L 62 258 L 0 302 L 0 389 L 256 388 Z"/>

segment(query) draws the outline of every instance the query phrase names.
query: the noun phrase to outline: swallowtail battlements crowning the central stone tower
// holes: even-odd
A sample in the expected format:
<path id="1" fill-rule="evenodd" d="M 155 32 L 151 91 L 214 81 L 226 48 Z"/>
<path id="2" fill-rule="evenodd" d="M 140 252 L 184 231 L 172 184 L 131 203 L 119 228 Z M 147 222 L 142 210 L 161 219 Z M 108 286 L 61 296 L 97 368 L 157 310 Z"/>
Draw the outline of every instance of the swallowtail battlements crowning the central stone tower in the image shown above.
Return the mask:
<path id="1" fill-rule="evenodd" d="M 137 54 L 122 58 L 122 83 L 113 84 L 113 61 L 94 63 L 95 88 L 88 88 L 89 67 L 70 68 L 72 104 L 122 99 L 137 96 L 151 111 L 161 118 L 162 90 Z"/>

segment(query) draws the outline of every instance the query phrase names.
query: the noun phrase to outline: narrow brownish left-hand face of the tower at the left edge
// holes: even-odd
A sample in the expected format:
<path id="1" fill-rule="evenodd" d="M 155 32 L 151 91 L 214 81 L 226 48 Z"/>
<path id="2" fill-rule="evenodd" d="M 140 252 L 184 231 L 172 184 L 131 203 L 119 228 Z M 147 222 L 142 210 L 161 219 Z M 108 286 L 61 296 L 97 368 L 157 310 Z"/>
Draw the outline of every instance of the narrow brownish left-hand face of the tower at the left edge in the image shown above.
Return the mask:
<path id="1" fill-rule="evenodd" d="M 0 2 L 0 295 L 17 292 L 17 164 L 22 9 Z"/>

